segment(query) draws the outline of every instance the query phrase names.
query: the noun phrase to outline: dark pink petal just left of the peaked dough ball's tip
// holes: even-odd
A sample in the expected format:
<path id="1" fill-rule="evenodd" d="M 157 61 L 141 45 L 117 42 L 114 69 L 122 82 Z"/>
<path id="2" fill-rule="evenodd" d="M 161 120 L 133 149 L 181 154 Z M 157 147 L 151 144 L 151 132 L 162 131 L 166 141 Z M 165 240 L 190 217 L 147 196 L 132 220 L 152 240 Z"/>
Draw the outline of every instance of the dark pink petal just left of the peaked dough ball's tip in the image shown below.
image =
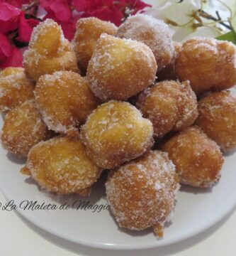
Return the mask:
<path id="1" fill-rule="evenodd" d="M 40 21 L 36 20 L 35 18 L 26 19 L 25 13 L 22 11 L 18 25 L 19 36 L 16 39 L 21 42 L 30 41 L 33 28 L 37 26 L 38 23 L 40 23 Z"/>

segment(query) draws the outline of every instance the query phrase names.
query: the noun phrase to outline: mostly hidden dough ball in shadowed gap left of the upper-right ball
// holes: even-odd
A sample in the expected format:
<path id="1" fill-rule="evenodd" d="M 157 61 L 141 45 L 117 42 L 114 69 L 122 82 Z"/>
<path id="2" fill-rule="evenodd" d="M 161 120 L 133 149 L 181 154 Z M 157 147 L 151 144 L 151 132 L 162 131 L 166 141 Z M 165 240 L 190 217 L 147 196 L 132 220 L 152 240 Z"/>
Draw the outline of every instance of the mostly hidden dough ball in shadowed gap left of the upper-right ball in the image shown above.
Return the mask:
<path id="1" fill-rule="evenodd" d="M 175 62 L 176 58 L 179 55 L 179 51 L 181 49 L 182 44 L 179 42 L 174 42 L 174 55 L 172 58 L 172 62 L 169 65 L 166 65 L 162 70 L 157 72 L 157 79 L 159 81 L 163 80 L 176 80 L 176 72 L 175 72 Z"/>

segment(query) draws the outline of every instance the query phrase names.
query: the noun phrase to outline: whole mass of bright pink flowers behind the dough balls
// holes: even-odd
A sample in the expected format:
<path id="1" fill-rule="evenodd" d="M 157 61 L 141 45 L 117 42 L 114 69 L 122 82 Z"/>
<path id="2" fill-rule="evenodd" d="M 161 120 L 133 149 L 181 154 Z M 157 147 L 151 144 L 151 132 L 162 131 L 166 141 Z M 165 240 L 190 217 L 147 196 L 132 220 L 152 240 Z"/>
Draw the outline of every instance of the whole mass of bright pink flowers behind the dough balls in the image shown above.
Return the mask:
<path id="1" fill-rule="evenodd" d="M 22 50 L 28 46 L 33 28 L 52 18 L 72 40 L 79 18 L 95 16 L 119 26 L 129 15 L 150 4 L 141 0 L 0 0 L 0 69 L 22 66 Z"/>

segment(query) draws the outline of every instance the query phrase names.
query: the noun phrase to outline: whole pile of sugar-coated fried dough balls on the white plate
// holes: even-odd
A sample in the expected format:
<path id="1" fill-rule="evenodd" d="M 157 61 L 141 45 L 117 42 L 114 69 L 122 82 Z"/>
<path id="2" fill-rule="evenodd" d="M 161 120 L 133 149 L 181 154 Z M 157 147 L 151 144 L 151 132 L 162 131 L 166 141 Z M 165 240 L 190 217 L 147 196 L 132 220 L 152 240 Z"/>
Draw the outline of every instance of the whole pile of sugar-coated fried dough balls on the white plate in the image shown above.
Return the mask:
<path id="1" fill-rule="evenodd" d="M 236 47 L 176 43 L 151 16 L 81 18 L 72 42 L 47 19 L 24 68 L 0 73 L 1 143 L 47 191 L 88 196 L 108 169 L 118 225 L 162 237 L 179 183 L 210 188 L 236 147 Z"/>

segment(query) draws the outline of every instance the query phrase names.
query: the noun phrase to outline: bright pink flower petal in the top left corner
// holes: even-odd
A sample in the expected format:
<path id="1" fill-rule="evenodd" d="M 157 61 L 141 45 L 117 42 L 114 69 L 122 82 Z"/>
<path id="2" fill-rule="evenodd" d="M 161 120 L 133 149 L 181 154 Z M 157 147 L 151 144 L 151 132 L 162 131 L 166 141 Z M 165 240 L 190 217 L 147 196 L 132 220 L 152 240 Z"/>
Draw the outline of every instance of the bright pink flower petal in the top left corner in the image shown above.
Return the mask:
<path id="1" fill-rule="evenodd" d="M 18 18 L 21 14 L 19 9 L 11 4 L 0 4 L 0 33 L 13 31 L 18 26 Z"/>

